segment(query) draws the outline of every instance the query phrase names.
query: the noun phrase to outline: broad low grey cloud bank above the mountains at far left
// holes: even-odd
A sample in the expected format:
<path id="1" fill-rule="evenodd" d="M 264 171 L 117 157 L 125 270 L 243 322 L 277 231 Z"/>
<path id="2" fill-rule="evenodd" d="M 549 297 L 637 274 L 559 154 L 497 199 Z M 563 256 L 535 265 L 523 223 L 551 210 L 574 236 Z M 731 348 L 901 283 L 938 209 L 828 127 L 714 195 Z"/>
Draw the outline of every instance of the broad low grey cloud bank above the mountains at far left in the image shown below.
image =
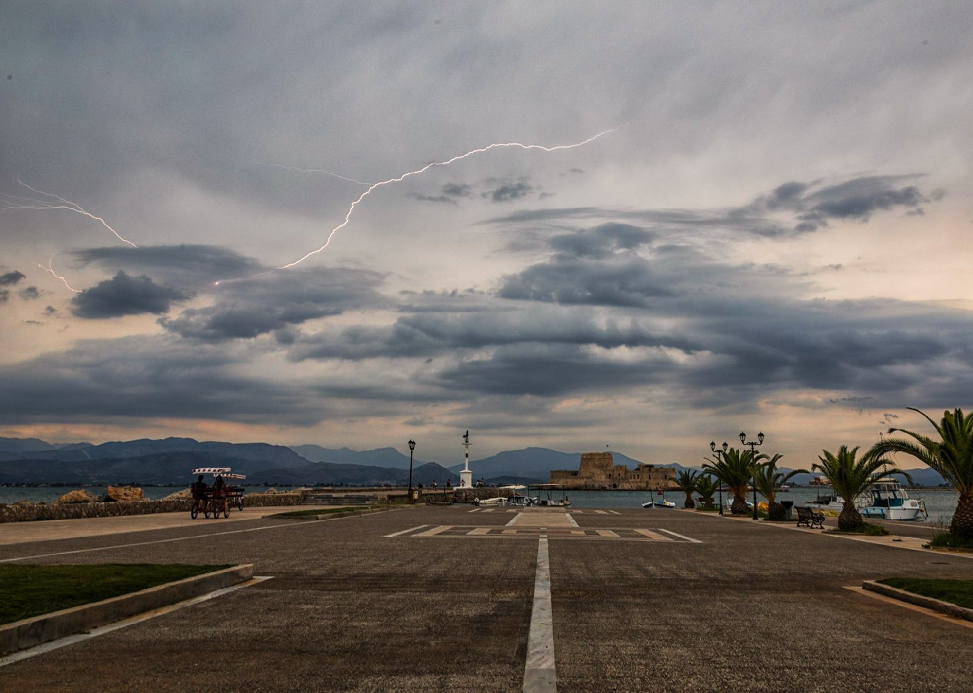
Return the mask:
<path id="1" fill-rule="evenodd" d="M 243 357 L 178 339 L 85 340 L 0 366 L 0 422 L 130 418 L 219 419 L 306 425 L 319 402 L 302 388 L 234 373 Z"/>

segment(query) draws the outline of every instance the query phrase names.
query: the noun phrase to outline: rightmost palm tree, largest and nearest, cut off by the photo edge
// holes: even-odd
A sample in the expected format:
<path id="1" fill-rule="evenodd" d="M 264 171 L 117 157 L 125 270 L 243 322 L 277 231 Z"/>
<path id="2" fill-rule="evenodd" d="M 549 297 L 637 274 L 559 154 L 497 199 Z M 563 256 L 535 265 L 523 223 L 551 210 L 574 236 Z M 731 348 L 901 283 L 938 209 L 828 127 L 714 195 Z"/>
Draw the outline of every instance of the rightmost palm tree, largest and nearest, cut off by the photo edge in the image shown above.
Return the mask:
<path id="1" fill-rule="evenodd" d="M 911 455 L 953 484 L 959 492 L 959 502 L 953 513 L 950 532 L 956 537 L 973 539 L 973 413 L 964 415 L 962 409 L 947 410 L 938 424 L 925 412 L 919 411 L 919 414 L 932 424 L 939 434 L 939 440 L 906 429 L 889 429 L 888 433 L 905 433 L 913 440 L 883 438 L 872 451 L 879 455 L 899 452 Z"/>

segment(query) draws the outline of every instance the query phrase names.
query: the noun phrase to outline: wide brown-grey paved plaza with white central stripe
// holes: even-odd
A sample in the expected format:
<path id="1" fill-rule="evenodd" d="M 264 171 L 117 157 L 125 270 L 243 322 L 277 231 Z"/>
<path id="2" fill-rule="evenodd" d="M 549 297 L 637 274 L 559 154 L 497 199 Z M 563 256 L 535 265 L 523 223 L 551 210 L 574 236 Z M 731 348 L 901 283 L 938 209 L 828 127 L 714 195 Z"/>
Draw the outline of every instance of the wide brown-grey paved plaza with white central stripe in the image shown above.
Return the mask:
<path id="1" fill-rule="evenodd" d="M 271 579 L 3 667 L 2 690 L 971 688 L 973 628 L 847 587 L 973 560 L 703 513 L 198 520 L 0 545 L 21 559 Z"/>

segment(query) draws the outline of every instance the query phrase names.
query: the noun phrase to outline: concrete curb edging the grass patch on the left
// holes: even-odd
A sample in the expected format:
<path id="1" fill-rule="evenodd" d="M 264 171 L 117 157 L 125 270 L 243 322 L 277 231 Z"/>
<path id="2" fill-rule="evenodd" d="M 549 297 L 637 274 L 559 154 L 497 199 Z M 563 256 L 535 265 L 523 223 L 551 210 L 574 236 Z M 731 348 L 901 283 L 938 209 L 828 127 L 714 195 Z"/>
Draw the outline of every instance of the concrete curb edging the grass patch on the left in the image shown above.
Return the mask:
<path id="1" fill-rule="evenodd" d="M 73 606 L 0 626 L 0 654 L 89 631 L 161 606 L 199 597 L 253 577 L 253 564 L 206 572 L 101 602 Z"/>

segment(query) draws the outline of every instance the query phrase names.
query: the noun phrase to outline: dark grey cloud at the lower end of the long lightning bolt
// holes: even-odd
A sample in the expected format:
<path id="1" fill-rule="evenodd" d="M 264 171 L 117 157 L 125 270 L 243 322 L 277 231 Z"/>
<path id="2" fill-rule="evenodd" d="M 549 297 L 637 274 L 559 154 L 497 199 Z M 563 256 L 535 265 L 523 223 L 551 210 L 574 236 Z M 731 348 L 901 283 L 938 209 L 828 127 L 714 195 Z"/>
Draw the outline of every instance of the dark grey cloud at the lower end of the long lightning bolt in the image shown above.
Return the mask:
<path id="1" fill-rule="evenodd" d="M 297 268 L 228 282 L 216 302 L 162 318 L 165 329 L 203 341 L 247 339 L 352 308 L 378 306 L 383 275 L 364 269 Z"/>

